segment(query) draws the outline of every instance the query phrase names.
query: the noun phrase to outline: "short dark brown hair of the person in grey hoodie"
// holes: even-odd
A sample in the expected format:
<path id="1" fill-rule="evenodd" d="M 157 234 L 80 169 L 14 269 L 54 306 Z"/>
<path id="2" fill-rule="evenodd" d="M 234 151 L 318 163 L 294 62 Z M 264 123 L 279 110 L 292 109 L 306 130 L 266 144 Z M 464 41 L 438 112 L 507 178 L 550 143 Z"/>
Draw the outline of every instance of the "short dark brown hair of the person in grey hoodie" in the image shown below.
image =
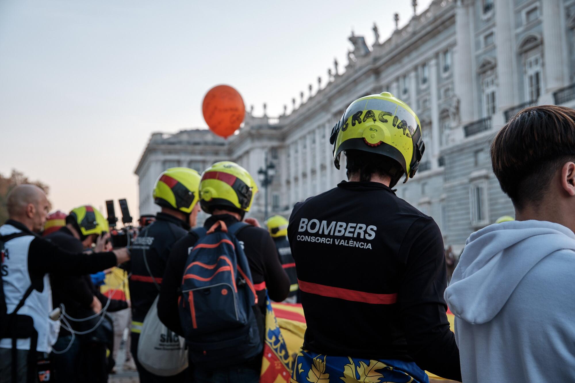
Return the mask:
<path id="1" fill-rule="evenodd" d="M 513 206 L 539 206 L 558 169 L 575 161 L 575 110 L 523 109 L 497 133 L 490 154 L 493 173 Z"/>

